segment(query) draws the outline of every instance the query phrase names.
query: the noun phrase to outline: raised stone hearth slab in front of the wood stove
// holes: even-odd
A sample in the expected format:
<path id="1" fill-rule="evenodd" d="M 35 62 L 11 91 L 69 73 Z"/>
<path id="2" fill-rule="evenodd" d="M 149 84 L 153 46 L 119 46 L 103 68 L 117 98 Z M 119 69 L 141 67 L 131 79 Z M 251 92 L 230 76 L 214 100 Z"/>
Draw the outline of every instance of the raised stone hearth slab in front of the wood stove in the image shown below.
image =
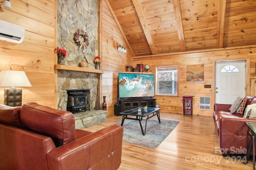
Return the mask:
<path id="1" fill-rule="evenodd" d="M 108 111 L 92 110 L 74 113 L 76 129 L 83 129 L 107 120 Z"/>

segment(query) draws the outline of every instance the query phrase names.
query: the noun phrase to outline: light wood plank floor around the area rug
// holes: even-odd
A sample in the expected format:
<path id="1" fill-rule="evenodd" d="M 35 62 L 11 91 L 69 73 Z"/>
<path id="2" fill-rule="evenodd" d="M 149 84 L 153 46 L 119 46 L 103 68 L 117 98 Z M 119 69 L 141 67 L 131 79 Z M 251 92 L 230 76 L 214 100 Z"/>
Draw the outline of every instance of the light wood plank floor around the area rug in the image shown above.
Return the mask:
<path id="1" fill-rule="evenodd" d="M 252 170 L 252 160 L 244 164 L 241 158 L 225 158 L 220 154 L 211 116 L 160 112 L 160 117 L 180 123 L 156 149 L 123 142 L 118 170 Z M 84 130 L 94 132 L 121 119 L 110 116 L 108 121 Z"/>

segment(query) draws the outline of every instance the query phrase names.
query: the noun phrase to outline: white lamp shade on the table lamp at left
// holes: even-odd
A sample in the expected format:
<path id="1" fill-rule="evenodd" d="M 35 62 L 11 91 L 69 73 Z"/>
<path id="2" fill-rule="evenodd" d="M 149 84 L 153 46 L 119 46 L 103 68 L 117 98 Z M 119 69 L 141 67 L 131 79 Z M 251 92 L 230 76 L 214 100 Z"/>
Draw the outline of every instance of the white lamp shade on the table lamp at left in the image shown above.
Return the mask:
<path id="1" fill-rule="evenodd" d="M 2 70 L 0 72 L 0 86 L 2 87 L 31 87 L 24 71 Z"/>

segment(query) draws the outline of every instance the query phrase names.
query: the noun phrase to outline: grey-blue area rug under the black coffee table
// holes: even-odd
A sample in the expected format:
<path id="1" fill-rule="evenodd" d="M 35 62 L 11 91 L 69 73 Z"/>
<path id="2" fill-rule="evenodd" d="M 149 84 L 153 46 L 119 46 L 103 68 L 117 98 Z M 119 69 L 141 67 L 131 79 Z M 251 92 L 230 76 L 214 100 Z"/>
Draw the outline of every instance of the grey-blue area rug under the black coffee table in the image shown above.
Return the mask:
<path id="1" fill-rule="evenodd" d="M 125 119 L 123 141 L 156 149 L 178 125 L 179 121 L 160 119 L 161 123 L 159 123 L 155 117 L 148 119 L 146 135 L 144 136 L 138 120 Z M 146 119 L 142 119 L 141 123 L 145 130 Z M 121 125 L 121 122 L 116 123 L 116 125 Z"/>

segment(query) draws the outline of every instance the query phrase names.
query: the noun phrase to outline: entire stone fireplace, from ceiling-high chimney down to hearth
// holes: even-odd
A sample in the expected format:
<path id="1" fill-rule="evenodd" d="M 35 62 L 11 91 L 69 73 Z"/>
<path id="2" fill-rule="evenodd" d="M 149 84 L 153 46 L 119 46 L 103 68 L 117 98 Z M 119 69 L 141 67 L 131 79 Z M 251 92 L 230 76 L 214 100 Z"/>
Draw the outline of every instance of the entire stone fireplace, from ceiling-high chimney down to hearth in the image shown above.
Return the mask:
<path id="1" fill-rule="evenodd" d="M 95 69 L 94 58 L 98 53 L 98 1 L 74 1 L 58 0 L 58 47 L 67 50 L 66 66 L 79 67 L 84 60 L 88 69 Z M 88 34 L 88 47 L 80 49 L 74 42 L 74 34 L 82 29 Z M 79 37 L 80 41 L 84 41 Z M 82 129 L 106 120 L 107 111 L 98 110 L 100 103 L 97 101 L 98 75 L 94 72 L 80 72 L 70 70 L 58 70 L 58 109 L 66 110 L 68 94 L 66 90 L 90 89 L 87 96 L 86 112 L 74 114 L 76 128 Z M 97 106 L 97 110 L 95 110 Z M 81 115 L 80 115 L 81 113 Z"/>

